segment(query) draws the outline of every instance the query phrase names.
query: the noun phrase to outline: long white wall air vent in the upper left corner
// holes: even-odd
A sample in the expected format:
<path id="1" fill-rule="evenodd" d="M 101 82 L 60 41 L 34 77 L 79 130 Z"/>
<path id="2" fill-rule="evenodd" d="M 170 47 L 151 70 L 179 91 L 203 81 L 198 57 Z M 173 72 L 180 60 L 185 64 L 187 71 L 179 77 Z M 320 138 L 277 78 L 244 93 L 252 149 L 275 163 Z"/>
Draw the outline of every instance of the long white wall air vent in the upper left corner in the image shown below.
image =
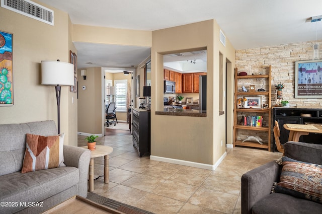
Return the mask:
<path id="1" fill-rule="evenodd" d="M 54 25 L 54 12 L 29 0 L 1 0 L 1 7 Z"/>

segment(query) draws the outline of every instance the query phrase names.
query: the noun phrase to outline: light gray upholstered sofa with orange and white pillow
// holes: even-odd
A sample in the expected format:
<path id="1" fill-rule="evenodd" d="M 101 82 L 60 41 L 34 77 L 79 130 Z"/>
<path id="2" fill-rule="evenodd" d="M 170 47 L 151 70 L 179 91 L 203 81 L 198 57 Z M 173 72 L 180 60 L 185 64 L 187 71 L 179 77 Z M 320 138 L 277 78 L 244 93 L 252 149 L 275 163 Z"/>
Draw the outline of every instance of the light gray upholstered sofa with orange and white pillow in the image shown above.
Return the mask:
<path id="1" fill-rule="evenodd" d="M 26 133 L 57 135 L 57 129 L 52 120 L 0 125 L 0 213 L 40 213 L 74 195 L 86 197 L 91 152 L 64 145 L 66 167 L 21 173 Z"/>

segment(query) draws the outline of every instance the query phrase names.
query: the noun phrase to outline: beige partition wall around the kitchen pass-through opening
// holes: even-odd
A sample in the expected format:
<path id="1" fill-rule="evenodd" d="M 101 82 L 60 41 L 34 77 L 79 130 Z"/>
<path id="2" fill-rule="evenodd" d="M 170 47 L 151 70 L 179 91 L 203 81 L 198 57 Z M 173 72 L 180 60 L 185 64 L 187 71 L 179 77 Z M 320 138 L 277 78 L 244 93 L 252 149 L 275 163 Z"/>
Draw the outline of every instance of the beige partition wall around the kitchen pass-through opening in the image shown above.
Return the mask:
<path id="1" fill-rule="evenodd" d="M 219 117 L 219 51 L 234 62 L 235 50 L 230 44 L 226 48 L 220 45 L 219 26 L 214 20 L 152 32 L 152 156 L 214 165 L 225 153 L 225 144 L 221 146 L 225 126 L 218 123 L 225 124 L 225 117 Z M 205 48 L 207 117 L 155 115 L 154 111 L 163 110 L 163 54 Z"/>

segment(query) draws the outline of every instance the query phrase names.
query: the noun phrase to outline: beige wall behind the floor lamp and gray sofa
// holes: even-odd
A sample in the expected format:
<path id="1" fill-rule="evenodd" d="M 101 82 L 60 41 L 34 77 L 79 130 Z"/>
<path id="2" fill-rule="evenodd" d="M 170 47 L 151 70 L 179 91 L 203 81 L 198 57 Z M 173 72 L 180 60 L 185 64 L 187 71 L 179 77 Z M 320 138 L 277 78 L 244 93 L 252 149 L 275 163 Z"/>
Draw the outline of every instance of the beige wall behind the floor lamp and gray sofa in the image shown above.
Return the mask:
<path id="1" fill-rule="evenodd" d="M 51 9 L 54 26 L 0 8 L 1 30 L 13 33 L 14 61 L 14 106 L 0 107 L 1 124 L 39 120 L 54 120 L 57 124 L 55 88 L 41 85 L 41 60 L 69 62 L 69 49 L 73 47 L 68 14 Z M 60 129 L 66 134 L 64 143 L 70 145 L 75 144 L 75 133 L 69 127 L 77 120 L 71 114 L 77 111 L 77 104 L 70 102 L 73 95 L 69 87 L 62 87 Z"/>

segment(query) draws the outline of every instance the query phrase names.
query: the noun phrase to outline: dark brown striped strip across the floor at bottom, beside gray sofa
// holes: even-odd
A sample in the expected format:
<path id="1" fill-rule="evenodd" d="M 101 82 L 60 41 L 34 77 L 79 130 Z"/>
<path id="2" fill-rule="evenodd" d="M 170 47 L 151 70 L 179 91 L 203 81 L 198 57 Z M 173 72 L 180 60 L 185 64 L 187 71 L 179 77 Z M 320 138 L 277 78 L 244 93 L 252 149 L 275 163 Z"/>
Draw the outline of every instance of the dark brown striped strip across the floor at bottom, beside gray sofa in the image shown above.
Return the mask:
<path id="1" fill-rule="evenodd" d="M 127 205 L 125 203 L 118 202 L 116 200 L 103 197 L 93 192 L 87 193 L 87 199 L 92 200 L 96 203 L 108 206 L 126 214 L 154 214 L 153 212 L 145 211 L 134 206 Z"/>

